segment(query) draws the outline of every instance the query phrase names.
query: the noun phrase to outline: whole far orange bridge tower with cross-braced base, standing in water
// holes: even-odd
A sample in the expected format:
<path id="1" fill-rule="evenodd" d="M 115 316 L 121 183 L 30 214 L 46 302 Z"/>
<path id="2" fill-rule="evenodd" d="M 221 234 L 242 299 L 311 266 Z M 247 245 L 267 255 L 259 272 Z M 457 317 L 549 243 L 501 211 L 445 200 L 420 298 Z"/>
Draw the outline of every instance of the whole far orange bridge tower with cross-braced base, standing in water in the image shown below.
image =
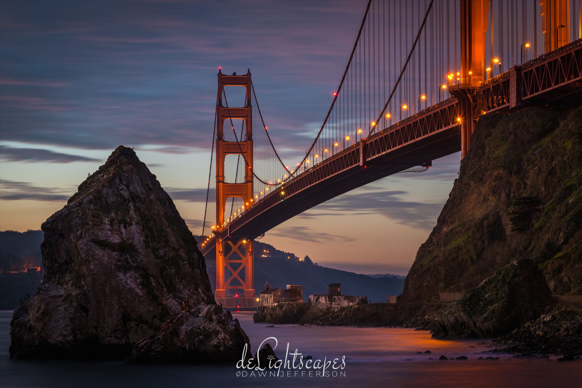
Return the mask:
<path id="1" fill-rule="evenodd" d="M 246 104 L 242 108 L 223 106 L 222 97 L 225 86 L 246 88 Z M 225 302 L 225 307 L 254 307 L 255 290 L 253 286 L 253 240 L 229 241 L 223 240 L 221 234 L 225 227 L 225 210 L 228 198 L 240 197 L 245 204 L 253 199 L 253 125 L 251 107 L 251 73 L 250 70 L 242 76 L 218 72 L 218 106 L 217 106 L 217 139 L 216 139 L 216 195 L 217 195 L 217 227 L 214 234 L 217 239 L 217 288 L 215 298 L 217 303 Z M 230 127 L 231 120 L 244 120 L 246 129 L 243 138 L 237 141 L 225 141 L 223 129 Z M 226 123 L 225 123 L 226 122 Z M 244 171 L 242 183 L 225 181 L 226 155 L 241 155 L 249 163 L 241 160 Z M 242 158 L 241 158 L 242 159 Z M 244 275 L 243 275 L 244 274 Z M 227 290 L 242 290 L 242 294 L 229 294 Z"/>

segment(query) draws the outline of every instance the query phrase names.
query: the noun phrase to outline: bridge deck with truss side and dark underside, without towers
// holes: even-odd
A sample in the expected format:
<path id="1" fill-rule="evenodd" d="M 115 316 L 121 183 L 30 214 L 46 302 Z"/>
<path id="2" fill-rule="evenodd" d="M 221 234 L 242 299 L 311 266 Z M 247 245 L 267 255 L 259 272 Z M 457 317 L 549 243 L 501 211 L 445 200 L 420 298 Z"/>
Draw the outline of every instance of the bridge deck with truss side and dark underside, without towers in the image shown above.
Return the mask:
<path id="1" fill-rule="evenodd" d="M 481 113 L 574 92 L 574 98 L 580 98 L 580 81 L 582 40 L 577 40 L 486 81 L 476 91 L 476 98 L 481 101 Z M 340 194 L 460 151 L 457 118 L 457 99 L 449 98 L 359 141 L 266 195 L 222 230 L 222 239 L 255 239 Z M 214 245 L 212 237 L 203 247 L 203 254 Z"/>

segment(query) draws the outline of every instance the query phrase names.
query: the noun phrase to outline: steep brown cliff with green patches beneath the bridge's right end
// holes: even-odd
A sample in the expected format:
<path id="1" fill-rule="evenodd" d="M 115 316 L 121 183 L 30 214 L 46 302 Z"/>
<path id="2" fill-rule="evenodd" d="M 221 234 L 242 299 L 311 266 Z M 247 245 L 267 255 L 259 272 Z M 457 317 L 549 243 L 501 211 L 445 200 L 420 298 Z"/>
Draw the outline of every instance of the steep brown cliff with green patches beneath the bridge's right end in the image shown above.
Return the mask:
<path id="1" fill-rule="evenodd" d="M 582 107 L 482 116 L 401 301 L 476 287 L 529 258 L 553 294 L 582 291 Z"/>

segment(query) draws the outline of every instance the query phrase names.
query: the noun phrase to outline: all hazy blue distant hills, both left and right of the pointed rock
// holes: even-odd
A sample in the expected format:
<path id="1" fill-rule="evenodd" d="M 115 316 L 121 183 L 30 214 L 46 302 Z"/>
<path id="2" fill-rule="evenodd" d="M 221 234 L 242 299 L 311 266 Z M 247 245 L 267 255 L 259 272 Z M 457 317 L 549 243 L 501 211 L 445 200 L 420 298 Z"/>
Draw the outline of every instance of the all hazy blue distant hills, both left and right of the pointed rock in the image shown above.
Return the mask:
<path id="1" fill-rule="evenodd" d="M 41 230 L 24 233 L 7 230 L 0 232 L 0 269 L 3 272 L 22 270 L 27 266 L 41 266 L 40 244 L 43 240 Z M 200 241 L 200 236 L 196 236 Z M 290 252 L 277 250 L 269 244 L 255 241 L 255 289 L 257 293 L 268 280 L 274 287 L 286 284 L 301 284 L 307 296 L 324 292 L 329 283 L 342 283 L 342 294 L 365 295 L 368 300 L 385 301 L 389 295 L 402 293 L 404 277 L 391 275 L 360 275 L 339 269 L 316 265 L 307 258 L 299 258 Z M 268 252 L 267 252 L 268 251 Z M 262 256 L 265 257 L 262 257 Z M 214 252 L 206 257 L 208 277 L 212 287 L 216 284 L 216 260 Z M 19 298 L 36 293 L 40 283 L 40 273 L 10 274 L 3 273 L 0 282 L 0 309 L 12 309 Z"/>

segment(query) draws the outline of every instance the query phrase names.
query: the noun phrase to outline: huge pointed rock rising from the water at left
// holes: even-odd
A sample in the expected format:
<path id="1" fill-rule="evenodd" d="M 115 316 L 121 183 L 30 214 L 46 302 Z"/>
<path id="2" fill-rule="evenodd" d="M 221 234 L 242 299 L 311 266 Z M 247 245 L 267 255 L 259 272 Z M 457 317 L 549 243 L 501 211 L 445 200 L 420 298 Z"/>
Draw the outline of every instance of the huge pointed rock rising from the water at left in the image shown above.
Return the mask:
<path id="1" fill-rule="evenodd" d="M 14 311 L 11 357 L 127 357 L 186 297 L 214 304 L 194 236 L 130 148 L 115 149 L 42 230 L 41 285 Z"/>

